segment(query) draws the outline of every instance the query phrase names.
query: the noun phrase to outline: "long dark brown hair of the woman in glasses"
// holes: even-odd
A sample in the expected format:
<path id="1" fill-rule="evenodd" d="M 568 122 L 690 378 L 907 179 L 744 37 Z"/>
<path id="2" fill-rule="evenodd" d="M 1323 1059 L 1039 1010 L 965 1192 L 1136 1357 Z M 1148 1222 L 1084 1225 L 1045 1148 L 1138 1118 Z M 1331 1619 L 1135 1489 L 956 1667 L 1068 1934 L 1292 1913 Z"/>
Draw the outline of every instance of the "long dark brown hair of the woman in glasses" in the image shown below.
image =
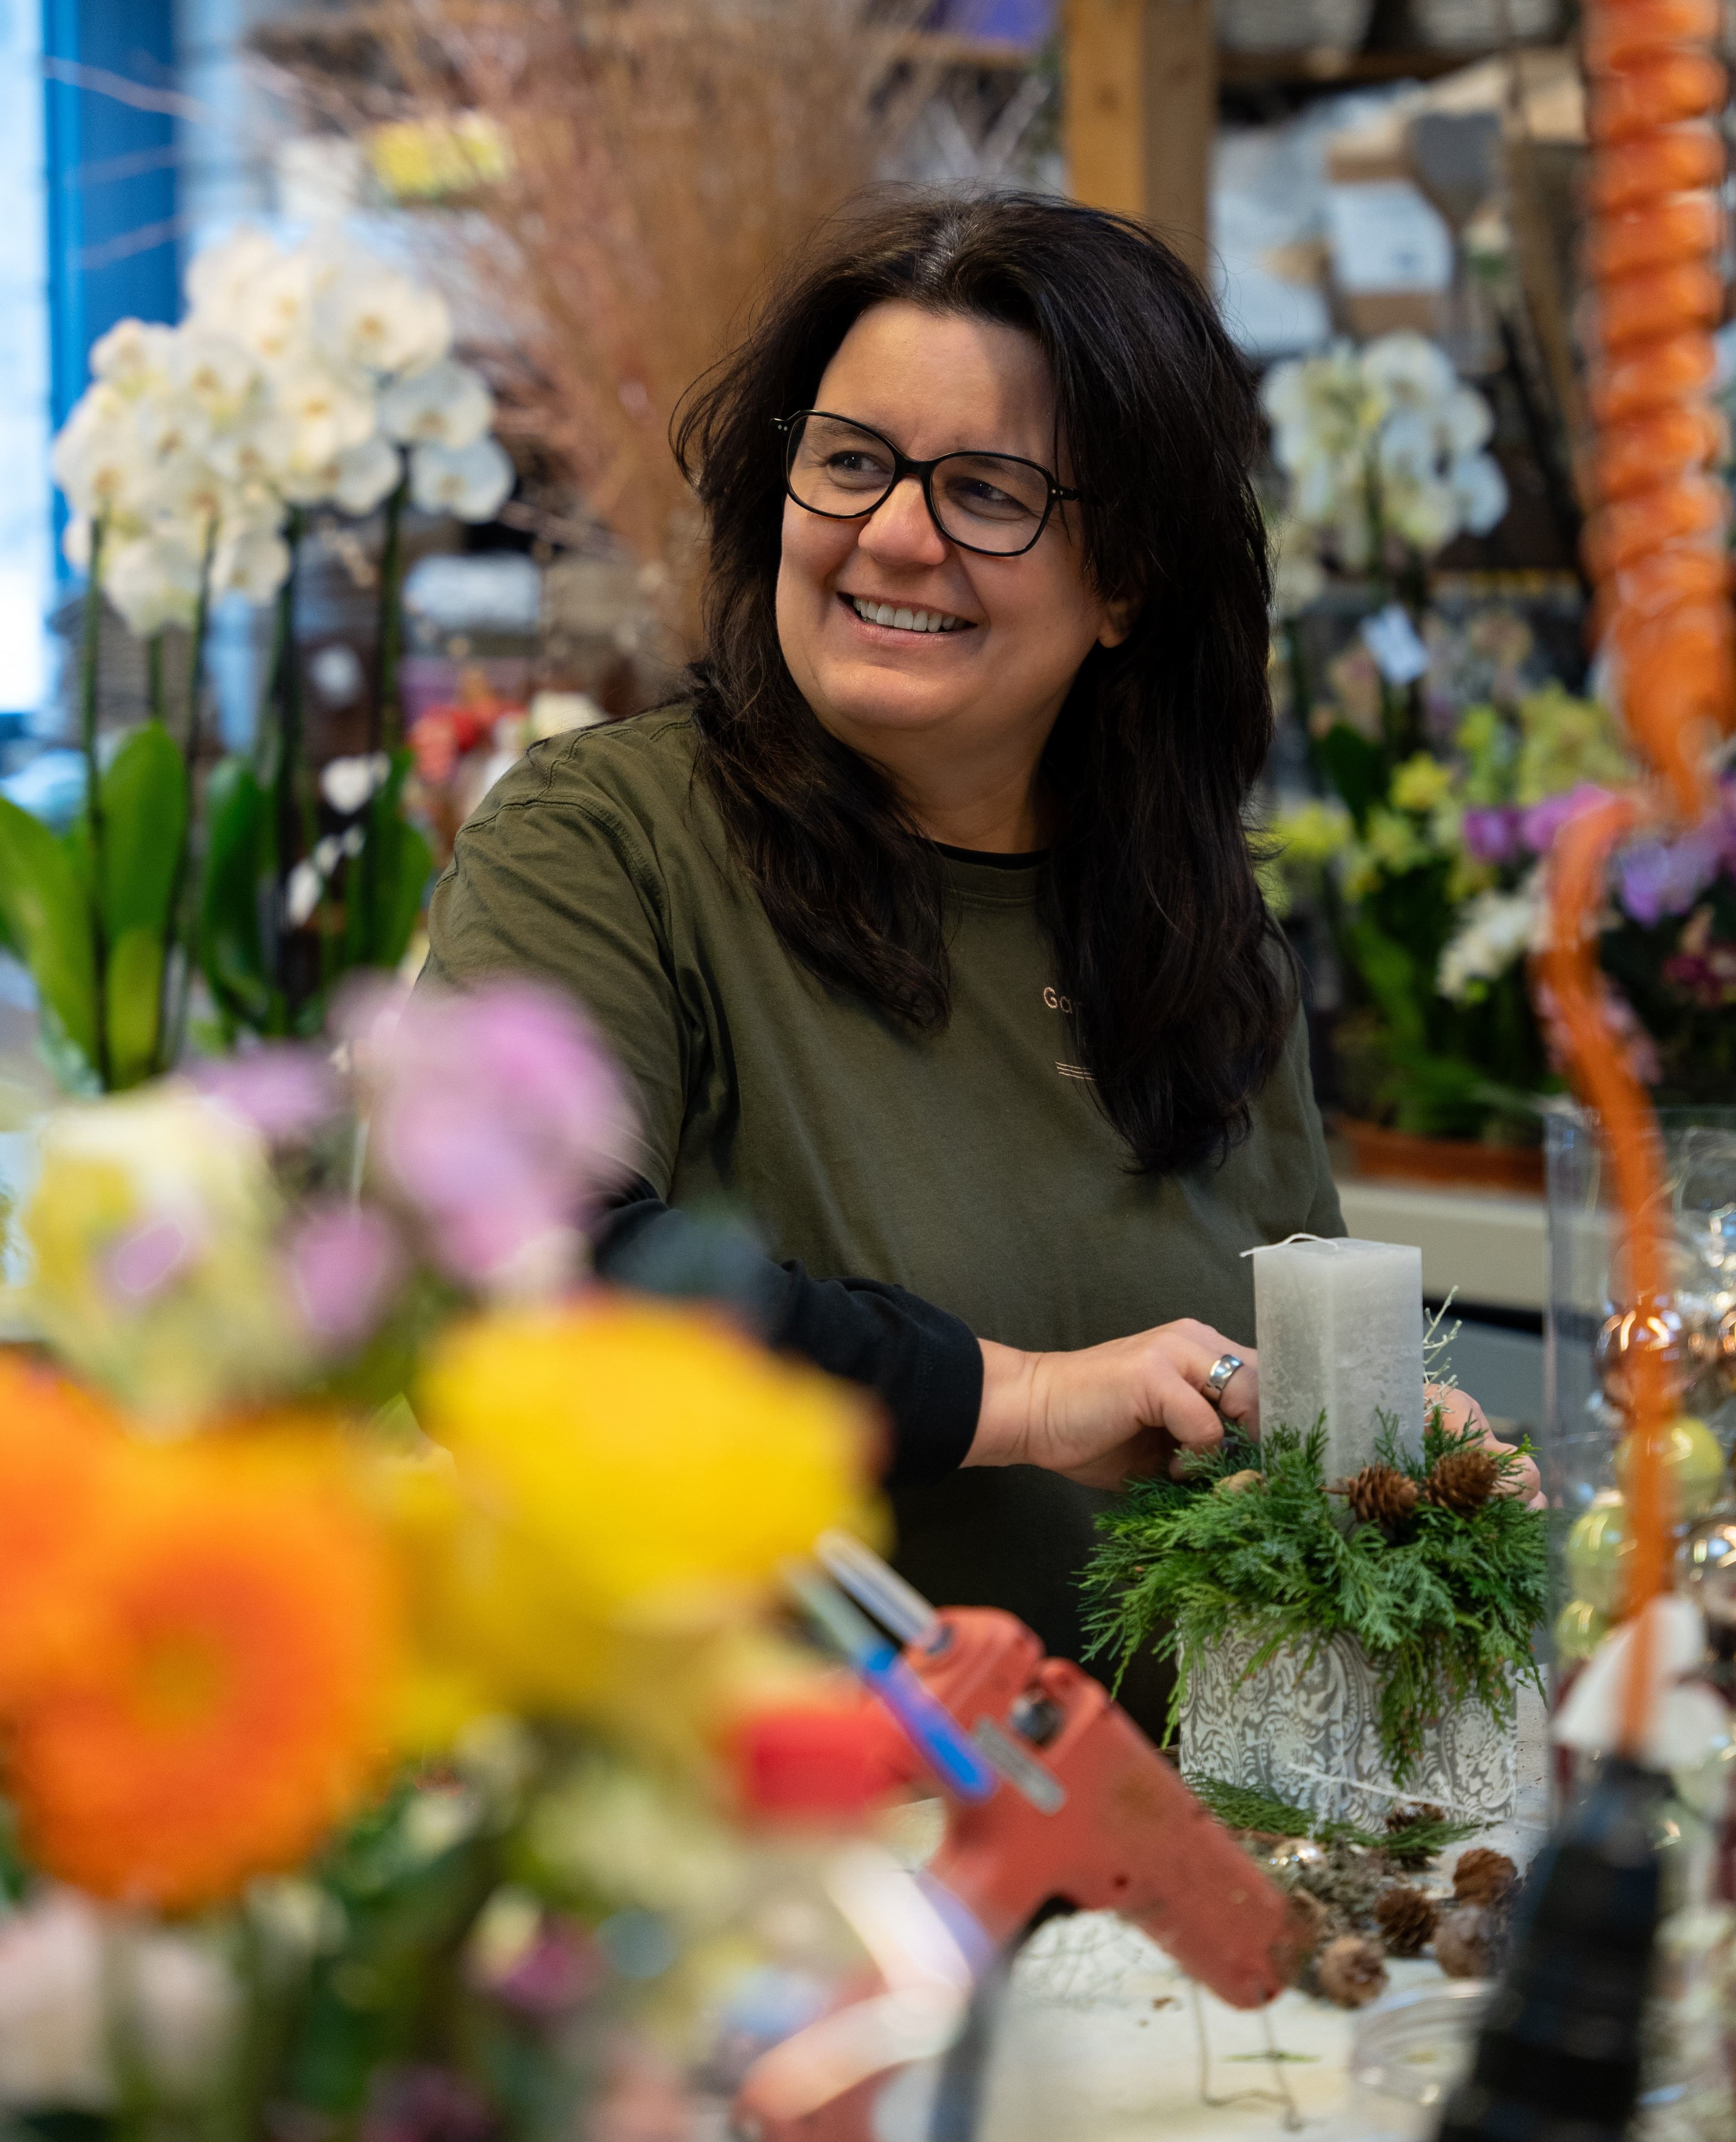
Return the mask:
<path id="1" fill-rule="evenodd" d="M 1271 743 L 1269 565 L 1254 390 L 1194 274 L 1123 216 L 1035 195 L 874 195 L 827 223 L 746 343 L 690 396 L 675 452 L 712 533 L 699 771 L 782 942 L 915 1028 L 949 1011 L 945 874 L 892 784 L 827 735 L 774 610 L 774 418 L 812 405 L 872 304 L 1022 328 L 1054 381 L 1084 570 L 1134 598 L 1044 752 L 1057 979 L 1134 1165 L 1187 1167 L 1247 1125 L 1294 1017 L 1254 883 L 1247 793 Z"/>

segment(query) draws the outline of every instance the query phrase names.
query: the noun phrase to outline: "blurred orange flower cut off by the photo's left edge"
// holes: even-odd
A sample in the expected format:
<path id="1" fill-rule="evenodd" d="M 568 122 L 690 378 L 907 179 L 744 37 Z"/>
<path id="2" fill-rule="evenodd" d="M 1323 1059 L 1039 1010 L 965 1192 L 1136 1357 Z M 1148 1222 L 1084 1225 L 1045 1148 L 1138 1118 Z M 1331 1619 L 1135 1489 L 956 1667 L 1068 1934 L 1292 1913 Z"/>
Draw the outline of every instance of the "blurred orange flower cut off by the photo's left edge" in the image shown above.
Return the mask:
<path id="1" fill-rule="evenodd" d="M 73 1641 L 116 1416 L 24 1354 L 0 1349 L 0 1707 Z"/>

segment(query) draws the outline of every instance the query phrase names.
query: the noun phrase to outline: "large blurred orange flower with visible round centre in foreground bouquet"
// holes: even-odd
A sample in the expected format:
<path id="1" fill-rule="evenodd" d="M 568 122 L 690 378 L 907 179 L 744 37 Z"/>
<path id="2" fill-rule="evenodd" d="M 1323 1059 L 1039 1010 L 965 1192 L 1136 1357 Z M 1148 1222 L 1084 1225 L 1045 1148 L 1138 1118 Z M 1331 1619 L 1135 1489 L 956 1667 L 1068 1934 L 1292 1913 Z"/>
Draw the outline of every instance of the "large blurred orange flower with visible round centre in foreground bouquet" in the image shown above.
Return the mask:
<path id="1" fill-rule="evenodd" d="M 124 1474 L 9 1784 L 49 1874 L 191 1909 L 304 1859 L 373 1782 L 396 1589 L 332 1444 L 133 1448 Z"/>

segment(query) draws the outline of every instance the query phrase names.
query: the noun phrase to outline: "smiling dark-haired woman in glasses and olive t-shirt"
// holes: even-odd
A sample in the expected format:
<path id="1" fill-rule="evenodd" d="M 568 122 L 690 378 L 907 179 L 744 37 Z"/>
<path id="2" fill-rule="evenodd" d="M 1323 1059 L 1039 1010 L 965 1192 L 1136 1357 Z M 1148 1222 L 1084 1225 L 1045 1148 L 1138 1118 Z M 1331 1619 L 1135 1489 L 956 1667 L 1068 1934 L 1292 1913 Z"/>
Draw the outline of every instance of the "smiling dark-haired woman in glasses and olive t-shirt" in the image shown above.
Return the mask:
<path id="1" fill-rule="evenodd" d="M 557 977 L 639 1086 L 604 1272 L 746 1208 L 767 1334 L 885 1403 L 904 1570 L 1069 1656 L 1102 1491 L 1258 1424 L 1243 1251 L 1344 1232 L 1243 833 L 1254 446 L 1138 225 L 870 206 L 679 422 L 688 700 L 538 745 L 433 900 L 433 975 Z"/>

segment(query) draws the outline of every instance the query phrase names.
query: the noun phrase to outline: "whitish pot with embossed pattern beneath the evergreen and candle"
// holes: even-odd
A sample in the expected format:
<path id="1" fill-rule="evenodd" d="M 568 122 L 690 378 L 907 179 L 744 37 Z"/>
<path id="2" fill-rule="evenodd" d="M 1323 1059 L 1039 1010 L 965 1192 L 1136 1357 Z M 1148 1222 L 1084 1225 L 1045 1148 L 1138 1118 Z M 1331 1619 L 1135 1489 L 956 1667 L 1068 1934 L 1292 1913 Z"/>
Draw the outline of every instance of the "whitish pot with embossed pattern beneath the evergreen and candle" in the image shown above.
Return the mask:
<path id="1" fill-rule="evenodd" d="M 1245 1679 L 1258 1645 L 1232 1636 L 1187 1677 L 1181 1767 L 1327 1821 L 1380 1829 L 1400 1799 L 1432 1799 L 1453 1821 L 1498 1823 L 1517 1795 L 1517 1735 L 1481 1703 L 1457 1703 L 1423 1735 L 1423 1759 L 1393 1789 L 1380 1752 L 1380 1681 L 1367 1654 L 1335 1636 L 1314 1658 L 1277 1651 Z"/>

